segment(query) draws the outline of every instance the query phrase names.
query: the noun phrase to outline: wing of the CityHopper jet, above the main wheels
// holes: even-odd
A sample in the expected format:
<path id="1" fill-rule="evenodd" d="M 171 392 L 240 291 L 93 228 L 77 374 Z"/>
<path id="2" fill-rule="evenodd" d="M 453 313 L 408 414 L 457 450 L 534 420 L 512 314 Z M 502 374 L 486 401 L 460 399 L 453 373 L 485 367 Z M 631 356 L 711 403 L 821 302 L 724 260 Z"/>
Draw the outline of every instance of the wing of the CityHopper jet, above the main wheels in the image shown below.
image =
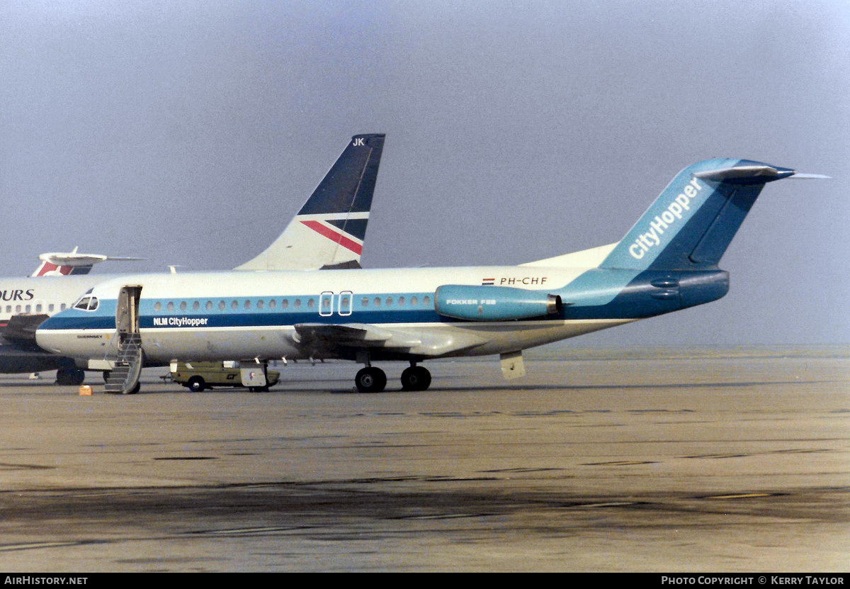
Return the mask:
<path id="1" fill-rule="evenodd" d="M 385 351 L 394 357 L 433 357 L 486 343 L 479 335 L 428 328 L 386 328 L 369 323 L 298 323 L 295 340 L 314 356 L 343 351 Z"/>

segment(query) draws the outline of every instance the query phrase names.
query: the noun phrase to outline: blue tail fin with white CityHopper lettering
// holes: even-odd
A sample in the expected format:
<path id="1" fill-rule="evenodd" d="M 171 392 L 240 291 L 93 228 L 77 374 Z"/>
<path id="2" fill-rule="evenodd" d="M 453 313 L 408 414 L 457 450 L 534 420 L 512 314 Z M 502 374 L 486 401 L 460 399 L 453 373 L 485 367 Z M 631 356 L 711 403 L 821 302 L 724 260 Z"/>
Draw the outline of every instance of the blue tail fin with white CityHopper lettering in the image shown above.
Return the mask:
<path id="1" fill-rule="evenodd" d="M 795 174 L 750 160 L 694 163 L 677 174 L 599 267 L 716 268 L 765 183 Z"/>

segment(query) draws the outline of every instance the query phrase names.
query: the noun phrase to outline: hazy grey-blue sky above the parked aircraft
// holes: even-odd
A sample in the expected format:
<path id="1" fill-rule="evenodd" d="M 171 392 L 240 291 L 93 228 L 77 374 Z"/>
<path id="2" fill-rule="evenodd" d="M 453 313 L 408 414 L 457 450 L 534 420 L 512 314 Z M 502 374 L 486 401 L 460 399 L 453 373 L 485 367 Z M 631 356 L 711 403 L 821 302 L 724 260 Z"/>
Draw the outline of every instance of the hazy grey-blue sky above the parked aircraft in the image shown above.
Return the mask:
<path id="1" fill-rule="evenodd" d="M 619 240 L 680 169 L 768 185 L 720 301 L 575 345 L 850 343 L 850 3 L 0 4 L 3 275 L 37 254 L 227 269 L 352 134 L 387 134 L 364 266 L 514 264 Z"/>

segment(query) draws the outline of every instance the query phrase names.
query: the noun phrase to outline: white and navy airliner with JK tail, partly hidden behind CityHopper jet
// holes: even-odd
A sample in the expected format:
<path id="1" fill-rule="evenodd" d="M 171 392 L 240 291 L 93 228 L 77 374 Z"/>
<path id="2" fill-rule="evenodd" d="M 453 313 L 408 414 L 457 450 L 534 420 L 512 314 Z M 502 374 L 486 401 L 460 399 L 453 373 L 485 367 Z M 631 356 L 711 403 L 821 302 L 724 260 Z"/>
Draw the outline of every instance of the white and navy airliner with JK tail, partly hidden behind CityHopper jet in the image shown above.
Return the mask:
<path id="1" fill-rule="evenodd" d="M 359 268 L 383 142 L 384 134 L 354 135 L 280 237 L 235 271 L 246 274 Z M 55 369 L 59 384 L 80 384 L 84 379 L 82 369 L 67 357 L 38 348 L 35 329 L 46 317 L 71 306 L 95 284 L 111 278 L 121 281 L 126 275 L 63 272 L 65 267 L 86 263 L 90 267 L 103 259 L 94 254 L 77 254 L 77 249 L 70 254 L 40 257 L 44 264 L 36 273 L 41 272 L 42 276 L 0 278 L 0 373 Z M 42 272 L 45 269 L 50 272 Z M 87 363 L 82 368 L 106 370 L 111 363 Z"/>

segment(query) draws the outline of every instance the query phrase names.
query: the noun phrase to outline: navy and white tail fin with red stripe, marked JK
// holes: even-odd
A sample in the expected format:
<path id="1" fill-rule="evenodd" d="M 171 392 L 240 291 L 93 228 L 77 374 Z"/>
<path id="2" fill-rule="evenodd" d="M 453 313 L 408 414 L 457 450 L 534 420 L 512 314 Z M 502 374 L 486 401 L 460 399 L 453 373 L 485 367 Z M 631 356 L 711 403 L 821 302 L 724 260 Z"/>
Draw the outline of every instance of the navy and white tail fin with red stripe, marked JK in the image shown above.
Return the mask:
<path id="1" fill-rule="evenodd" d="M 280 237 L 235 270 L 360 267 L 383 140 L 384 134 L 354 135 Z"/>

